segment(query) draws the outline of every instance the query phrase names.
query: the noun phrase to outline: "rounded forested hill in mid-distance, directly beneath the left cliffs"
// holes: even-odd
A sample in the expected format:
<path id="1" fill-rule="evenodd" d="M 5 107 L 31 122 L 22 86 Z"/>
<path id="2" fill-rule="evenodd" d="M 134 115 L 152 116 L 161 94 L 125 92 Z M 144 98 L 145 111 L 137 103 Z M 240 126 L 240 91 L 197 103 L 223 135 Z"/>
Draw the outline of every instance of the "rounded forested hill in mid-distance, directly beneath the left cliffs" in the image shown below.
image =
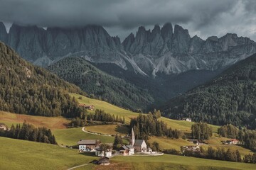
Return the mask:
<path id="1" fill-rule="evenodd" d="M 154 102 L 148 91 L 100 71 L 81 57 L 66 57 L 48 69 L 87 94 L 123 108 L 145 108 Z"/>

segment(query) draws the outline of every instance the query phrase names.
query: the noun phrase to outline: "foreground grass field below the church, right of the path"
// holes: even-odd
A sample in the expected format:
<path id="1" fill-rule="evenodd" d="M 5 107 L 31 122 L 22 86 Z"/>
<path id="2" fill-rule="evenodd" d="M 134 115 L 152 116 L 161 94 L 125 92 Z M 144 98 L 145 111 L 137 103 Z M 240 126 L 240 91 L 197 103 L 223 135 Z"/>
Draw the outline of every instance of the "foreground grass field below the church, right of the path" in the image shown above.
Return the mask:
<path id="1" fill-rule="evenodd" d="M 256 169 L 255 164 L 223 162 L 210 159 L 198 159 L 164 154 L 159 157 L 114 157 L 111 159 L 112 166 L 97 166 L 95 169 L 182 169 L 182 170 L 235 170 L 235 169 Z"/>

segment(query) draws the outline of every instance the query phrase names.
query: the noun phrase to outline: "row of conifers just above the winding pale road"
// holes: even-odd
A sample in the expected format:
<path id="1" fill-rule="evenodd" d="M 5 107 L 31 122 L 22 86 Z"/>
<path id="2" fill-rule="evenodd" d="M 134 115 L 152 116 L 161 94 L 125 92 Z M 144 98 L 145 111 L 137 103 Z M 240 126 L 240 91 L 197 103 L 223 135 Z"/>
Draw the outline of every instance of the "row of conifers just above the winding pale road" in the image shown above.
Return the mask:
<path id="1" fill-rule="evenodd" d="M 110 113 L 105 113 L 103 110 L 96 109 L 95 113 L 88 113 L 83 109 L 80 113 L 80 117 L 73 118 L 70 122 L 72 127 L 83 127 L 86 125 L 95 125 L 95 121 L 100 121 L 102 123 L 125 123 L 124 116 L 111 115 Z"/>

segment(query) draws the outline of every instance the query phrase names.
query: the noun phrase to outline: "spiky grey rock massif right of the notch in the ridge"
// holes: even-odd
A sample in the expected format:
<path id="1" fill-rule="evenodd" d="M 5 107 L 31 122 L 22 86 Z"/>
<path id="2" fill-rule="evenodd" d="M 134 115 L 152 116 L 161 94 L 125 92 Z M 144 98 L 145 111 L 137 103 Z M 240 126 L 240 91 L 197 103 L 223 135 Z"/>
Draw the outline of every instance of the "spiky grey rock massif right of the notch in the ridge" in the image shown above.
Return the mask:
<path id="1" fill-rule="evenodd" d="M 137 35 L 129 35 L 124 50 L 146 73 L 155 75 L 186 72 L 191 69 L 220 69 L 256 52 L 256 44 L 249 38 L 227 34 L 222 38 L 202 40 L 190 37 L 188 30 L 166 23 L 152 31 L 140 27 Z"/>

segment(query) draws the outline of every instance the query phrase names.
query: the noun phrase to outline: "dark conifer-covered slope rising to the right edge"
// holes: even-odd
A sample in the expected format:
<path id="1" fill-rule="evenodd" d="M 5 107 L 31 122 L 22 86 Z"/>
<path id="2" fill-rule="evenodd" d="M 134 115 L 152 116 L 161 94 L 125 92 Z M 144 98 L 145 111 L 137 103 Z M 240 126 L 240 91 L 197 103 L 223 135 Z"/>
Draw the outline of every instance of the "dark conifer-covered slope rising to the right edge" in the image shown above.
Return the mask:
<path id="1" fill-rule="evenodd" d="M 169 118 L 191 117 L 215 125 L 256 128 L 256 55 L 238 62 L 210 83 L 169 101 Z"/>

